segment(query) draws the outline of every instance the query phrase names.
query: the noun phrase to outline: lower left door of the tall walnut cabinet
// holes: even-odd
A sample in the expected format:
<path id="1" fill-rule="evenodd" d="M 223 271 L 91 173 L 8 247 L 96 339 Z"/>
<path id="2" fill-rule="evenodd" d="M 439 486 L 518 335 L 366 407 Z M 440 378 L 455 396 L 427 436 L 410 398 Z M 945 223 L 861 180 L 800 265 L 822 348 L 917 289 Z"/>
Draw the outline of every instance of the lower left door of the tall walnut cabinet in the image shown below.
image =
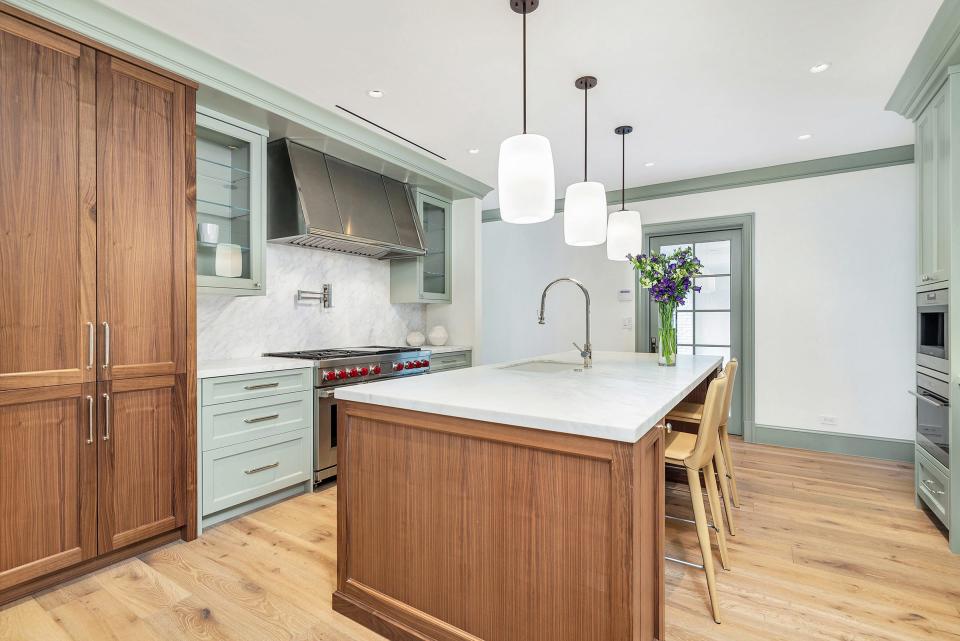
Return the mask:
<path id="1" fill-rule="evenodd" d="M 0 594 L 97 552 L 94 393 L 0 392 Z"/>

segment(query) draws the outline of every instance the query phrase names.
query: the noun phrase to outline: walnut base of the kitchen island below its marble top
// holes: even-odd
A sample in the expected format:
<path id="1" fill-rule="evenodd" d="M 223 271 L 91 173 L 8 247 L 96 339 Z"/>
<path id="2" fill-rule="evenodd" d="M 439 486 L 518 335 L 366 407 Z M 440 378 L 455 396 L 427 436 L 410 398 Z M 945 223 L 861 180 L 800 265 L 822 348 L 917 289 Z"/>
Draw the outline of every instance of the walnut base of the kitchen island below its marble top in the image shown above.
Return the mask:
<path id="1" fill-rule="evenodd" d="M 395 641 L 663 639 L 663 429 L 637 443 L 359 402 L 337 612 Z"/>

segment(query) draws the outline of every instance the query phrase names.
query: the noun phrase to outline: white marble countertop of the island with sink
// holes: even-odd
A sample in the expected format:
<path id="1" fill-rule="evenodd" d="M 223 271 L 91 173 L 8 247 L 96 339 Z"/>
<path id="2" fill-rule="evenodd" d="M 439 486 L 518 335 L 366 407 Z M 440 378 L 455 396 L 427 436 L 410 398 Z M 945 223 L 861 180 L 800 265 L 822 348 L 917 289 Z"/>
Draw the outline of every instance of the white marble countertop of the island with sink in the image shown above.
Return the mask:
<path id="1" fill-rule="evenodd" d="M 559 361 L 570 368 L 531 372 L 509 365 Z M 720 366 L 719 356 L 594 352 L 593 367 L 569 351 L 431 376 L 352 385 L 336 398 L 401 409 L 635 443 Z M 579 369 L 579 368 L 578 368 Z"/>

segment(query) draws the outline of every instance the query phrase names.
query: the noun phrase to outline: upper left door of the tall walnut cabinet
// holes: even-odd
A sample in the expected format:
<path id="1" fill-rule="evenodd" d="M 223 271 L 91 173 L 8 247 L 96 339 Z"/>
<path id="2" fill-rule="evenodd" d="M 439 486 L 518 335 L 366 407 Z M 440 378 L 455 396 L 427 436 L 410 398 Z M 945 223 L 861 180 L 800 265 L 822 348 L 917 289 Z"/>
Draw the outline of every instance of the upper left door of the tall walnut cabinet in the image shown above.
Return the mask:
<path id="1" fill-rule="evenodd" d="M 96 380 L 95 91 L 93 49 L 0 13 L 0 390 Z"/>

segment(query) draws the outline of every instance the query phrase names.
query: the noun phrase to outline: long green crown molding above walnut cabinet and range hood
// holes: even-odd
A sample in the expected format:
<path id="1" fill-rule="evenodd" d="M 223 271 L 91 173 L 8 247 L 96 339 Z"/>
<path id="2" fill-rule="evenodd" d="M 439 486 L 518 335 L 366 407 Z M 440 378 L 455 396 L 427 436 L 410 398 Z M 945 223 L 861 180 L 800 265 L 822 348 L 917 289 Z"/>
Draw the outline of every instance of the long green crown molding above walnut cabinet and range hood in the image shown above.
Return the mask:
<path id="1" fill-rule="evenodd" d="M 158 67 L 255 105 L 451 187 L 458 198 L 483 198 L 491 189 L 412 148 L 377 134 L 193 45 L 89 0 L 5 0 L 7 4 L 136 56 Z"/>

